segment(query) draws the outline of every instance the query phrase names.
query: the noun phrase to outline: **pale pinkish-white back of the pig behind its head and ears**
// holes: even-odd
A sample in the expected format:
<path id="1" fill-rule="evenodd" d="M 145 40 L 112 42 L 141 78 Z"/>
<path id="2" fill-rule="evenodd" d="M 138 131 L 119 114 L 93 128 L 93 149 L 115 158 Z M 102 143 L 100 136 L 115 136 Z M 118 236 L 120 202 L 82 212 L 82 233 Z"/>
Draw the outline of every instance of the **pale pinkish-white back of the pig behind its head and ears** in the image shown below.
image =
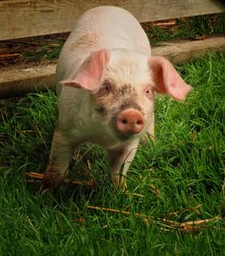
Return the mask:
<path id="1" fill-rule="evenodd" d="M 57 80 L 69 78 L 90 52 L 117 48 L 150 55 L 148 37 L 129 12 L 114 6 L 90 9 L 77 21 L 60 53 Z"/>

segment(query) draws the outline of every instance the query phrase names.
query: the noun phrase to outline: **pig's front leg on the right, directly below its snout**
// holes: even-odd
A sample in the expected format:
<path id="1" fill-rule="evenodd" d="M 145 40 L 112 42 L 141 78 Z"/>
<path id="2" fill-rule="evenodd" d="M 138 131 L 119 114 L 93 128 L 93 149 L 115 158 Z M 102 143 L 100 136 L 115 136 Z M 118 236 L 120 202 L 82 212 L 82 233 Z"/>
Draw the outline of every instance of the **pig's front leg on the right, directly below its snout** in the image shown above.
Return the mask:
<path id="1" fill-rule="evenodd" d="M 120 149 L 108 150 L 110 172 L 115 187 L 121 185 L 123 189 L 126 189 L 127 185 L 124 176 L 130 168 L 130 163 L 136 154 L 138 145 L 139 141 L 132 142 L 131 145 Z"/>

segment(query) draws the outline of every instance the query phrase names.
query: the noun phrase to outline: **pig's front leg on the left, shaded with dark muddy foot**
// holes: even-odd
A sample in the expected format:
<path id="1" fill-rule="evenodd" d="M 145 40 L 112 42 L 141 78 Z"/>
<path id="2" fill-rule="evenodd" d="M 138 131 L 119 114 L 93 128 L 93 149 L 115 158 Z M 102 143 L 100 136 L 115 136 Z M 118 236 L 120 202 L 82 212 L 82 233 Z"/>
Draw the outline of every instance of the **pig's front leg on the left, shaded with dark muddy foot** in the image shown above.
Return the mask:
<path id="1" fill-rule="evenodd" d="M 49 166 L 44 173 L 42 188 L 50 187 L 56 189 L 60 186 L 62 180 L 67 175 L 72 152 L 73 146 L 71 140 L 57 128 L 54 132 L 50 149 Z"/>

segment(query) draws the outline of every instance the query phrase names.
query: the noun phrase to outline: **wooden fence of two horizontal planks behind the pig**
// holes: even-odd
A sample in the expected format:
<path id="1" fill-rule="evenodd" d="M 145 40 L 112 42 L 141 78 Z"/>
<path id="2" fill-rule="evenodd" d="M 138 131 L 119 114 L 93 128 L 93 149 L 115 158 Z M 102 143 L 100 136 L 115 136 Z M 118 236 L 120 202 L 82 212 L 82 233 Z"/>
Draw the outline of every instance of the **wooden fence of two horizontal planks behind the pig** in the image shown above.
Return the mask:
<path id="1" fill-rule="evenodd" d="M 134 14 L 140 23 L 146 23 L 225 12 L 223 3 L 223 0 L 0 0 L 0 41 L 70 32 L 80 14 L 98 5 L 121 6 Z M 200 47 L 203 51 L 225 47 L 224 37 L 212 41 L 185 43 L 189 49 L 188 52 L 192 52 L 193 57 L 193 53 L 198 56 L 201 51 Z M 167 44 L 153 49 L 153 52 L 175 62 L 189 58 L 184 58 L 187 52 L 184 45 Z M 185 49 L 182 50 L 183 48 Z M 33 85 L 52 87 L 54 70 L 55 64 L 44 68 L 18 69 L 14 67 L 14 69 L 4 69 L 4 71 L 1 71 L 0 67 L 0 98 L 22 95 L 32 91 Z"/>

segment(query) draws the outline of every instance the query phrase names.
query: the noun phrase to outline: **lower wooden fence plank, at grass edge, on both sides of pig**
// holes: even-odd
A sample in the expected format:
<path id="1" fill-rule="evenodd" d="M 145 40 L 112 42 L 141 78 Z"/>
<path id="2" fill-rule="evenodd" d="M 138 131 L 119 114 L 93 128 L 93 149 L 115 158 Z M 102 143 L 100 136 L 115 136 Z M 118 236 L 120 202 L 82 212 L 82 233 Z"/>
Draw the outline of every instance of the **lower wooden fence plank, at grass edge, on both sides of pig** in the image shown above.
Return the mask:
<path id="1" fill-rule="evenodd" d="M 152 55 L 164 56 L 173 63 L 202 57 L 208 50 L 225 50 L 225 37 L 202 41 L 163 42 L 152 48 Z M 0 98 L 23 96 L 38 88 L 45 90 L 55 85 L 56 64 L 31 69 L 4 69 L 0 73 Z"/>

